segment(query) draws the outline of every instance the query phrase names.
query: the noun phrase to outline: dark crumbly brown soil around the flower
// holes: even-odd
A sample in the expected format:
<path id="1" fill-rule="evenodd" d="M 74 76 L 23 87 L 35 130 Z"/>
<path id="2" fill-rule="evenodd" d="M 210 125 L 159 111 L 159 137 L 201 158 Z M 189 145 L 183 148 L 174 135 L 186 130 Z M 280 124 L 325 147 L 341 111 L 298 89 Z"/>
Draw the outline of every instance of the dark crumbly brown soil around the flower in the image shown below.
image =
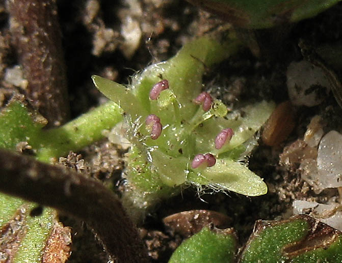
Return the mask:
<path id="1" fill-rule="evenodd" d="M 181 0 L 131 1 L 141 5 L 142 13 L 138 14 L 128 9 L 125 4 L 128 2 L 57 1 L 67 66 L 71 119 L 106 100 L 93 86 L 90 79 L 92 74 L 128 83 L 129 77 L 135 72 L 152 62 L 168 59 L 183 43 L 227 25 L 215 15 Z M 96 4 L 99 4 L 97 11 Z M 131 16 L 142 28 L 141 41 L 130 56 L 125 55 L 127 49 L 120 32 L 124 21 L 122 14 L 125 12 L 131 12 Z M 246 48 L 208 70 L 204 76 L 205 89 L 231 108 L 262 99 L 276 103 L 288 100 L 286 68 L 290 62 L 302 59 L 299 41 L 303 39 L 313 47 L 338 43 L 342 38 L 340 14 L 341 4 L 296 24 L 249 33 L 249 38 L 256 40 L 261 50 L 260 56 L 256 57 Z M 8 17 L 4 3 L 0 4 L 2 105 L 12 96 L 13 90 L 21 92 L 4 80 L 5 70 L 18 65 L 18 57 L 9 40 Z M 334 68 L 330 69 L 339 75 L 342 67 L 339 68 L 336 62 L 331 64 L 334 64 Z M 199 196 L 196 189 L 189 187 L 183 190 L 182 195 L 165 200 L 140 226 L 141 236 L 147 244 L 152 261 L 167 262 L 172 251 L 182 241 L 181 235 L 168 231 L 164 226 L 162 220 L 168 215 L 193 209 L 221 212 L 231 218 L 229 227 L 238 231 L 240 243 L 244 244 L 256 220 L 285 218 L 295 199 L 324 199 L 301 180 L 298 165 L 280 165 L 279 155 L 286 145 L 303 138 L 306 126 L 315 114 L 324 116 L 328 124 L 325 127 L 327 131 L 339 130 L 342 111 L 330 93 L 320 105 L 297 108 L 296 112 L 296 127 L 286 140 L 274 147 L 260 142 L 249 159 L 249 168 L 264 178 L 269 193 L 259 197 L 235 193 Z M 60 159 L 60 162 L 83 172 L 85 176 L 116 186 L 114 188 L 120 194 L 125 151 L 118 145 L 102 140 L 77 153 L 81 155 L 71 153 Z M 337 191 L 330 191 L 331 194 L 337 195 Z M 72 254 L 67 262 L 107 262 L 106 254 L 86 225 L 67 216 L 61 216 L 61 220 L 71 226 L 73 231 Z"/>

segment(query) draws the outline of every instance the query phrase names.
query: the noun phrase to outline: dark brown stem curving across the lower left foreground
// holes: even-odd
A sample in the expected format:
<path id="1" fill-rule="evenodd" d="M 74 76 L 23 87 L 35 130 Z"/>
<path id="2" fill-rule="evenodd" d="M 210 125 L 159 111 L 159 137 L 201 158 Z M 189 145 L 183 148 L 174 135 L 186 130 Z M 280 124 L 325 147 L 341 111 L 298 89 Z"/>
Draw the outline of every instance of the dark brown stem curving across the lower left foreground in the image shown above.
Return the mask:
<path id="1" fill-rule="evenodd" d="M 0 150 L 0 191 L 84 220 L 119 262 L 148 262 L 136 227 L 119 199 L 101 183 L 66 167 Z"/>

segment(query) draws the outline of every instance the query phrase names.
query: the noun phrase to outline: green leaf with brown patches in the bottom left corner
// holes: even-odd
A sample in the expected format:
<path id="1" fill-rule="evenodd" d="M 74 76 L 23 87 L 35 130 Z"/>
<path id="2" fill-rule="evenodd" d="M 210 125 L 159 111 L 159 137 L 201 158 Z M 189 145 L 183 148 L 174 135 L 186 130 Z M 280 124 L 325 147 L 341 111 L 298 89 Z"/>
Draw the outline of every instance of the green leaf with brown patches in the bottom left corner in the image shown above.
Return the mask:
<path id="1" fill-rule="evenodd" d="M 42 261 L 57 220 L 56 212 L 49 208 L 43 209 L 40 215 L 31 215 L 36 207 L 35 203 L 0 194 L 0 251 L 8 262 Z M 69 251 L 65 253 L 67 258 Z"/>

